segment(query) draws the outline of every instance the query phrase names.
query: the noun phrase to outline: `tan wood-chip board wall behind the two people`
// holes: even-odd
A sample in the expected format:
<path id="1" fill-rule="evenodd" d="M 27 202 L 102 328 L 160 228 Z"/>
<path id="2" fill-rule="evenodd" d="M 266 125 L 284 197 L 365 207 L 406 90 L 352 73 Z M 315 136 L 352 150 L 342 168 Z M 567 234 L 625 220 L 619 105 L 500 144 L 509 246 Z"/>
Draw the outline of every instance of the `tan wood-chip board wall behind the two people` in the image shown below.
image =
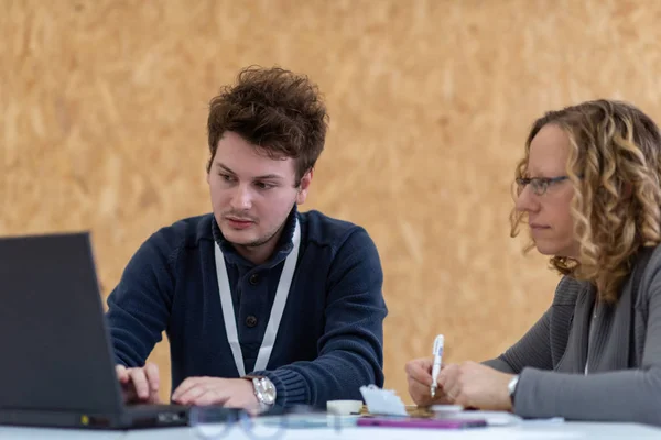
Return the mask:
<path id="1" fill-rule="evenodd" d="M 94 234 L 104 295 L 154 230 L 210 209 L 208 99 L 239 68 L 308 74 L 330 131 L 308 202 L 386 271 L 387 386 L 443 332 L 483 360 L 557 276 L 509 238 L 541 112 L 630 100 L 661 119 L 655 0 L 0 0 L 0 234 Z M 0 262 L 1 264 L 1 262 Z M 1 307 L 1 306 L 0 306 Z M 166 343 L 152 356 L 169 391 Z"/>

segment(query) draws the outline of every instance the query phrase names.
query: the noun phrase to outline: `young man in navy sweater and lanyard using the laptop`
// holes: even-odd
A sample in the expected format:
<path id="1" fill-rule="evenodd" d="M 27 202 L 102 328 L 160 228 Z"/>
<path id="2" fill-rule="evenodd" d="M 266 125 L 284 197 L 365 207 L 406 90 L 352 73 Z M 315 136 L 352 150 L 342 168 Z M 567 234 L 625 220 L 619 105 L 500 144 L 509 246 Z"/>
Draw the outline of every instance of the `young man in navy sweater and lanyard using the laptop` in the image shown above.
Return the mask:
<path id="1" fill-rule="evenodd" d="M 296 209 L 327 119 L 317 87 L 281 68 L 243 69 L 212 99 L 213 212 L 155 232 L 108 298 L 128 403 L 158 402 L 145 360 L 163 331 L 174 403 L 324 406 L 382 386 L 377 249 L 358 226 Z"/>

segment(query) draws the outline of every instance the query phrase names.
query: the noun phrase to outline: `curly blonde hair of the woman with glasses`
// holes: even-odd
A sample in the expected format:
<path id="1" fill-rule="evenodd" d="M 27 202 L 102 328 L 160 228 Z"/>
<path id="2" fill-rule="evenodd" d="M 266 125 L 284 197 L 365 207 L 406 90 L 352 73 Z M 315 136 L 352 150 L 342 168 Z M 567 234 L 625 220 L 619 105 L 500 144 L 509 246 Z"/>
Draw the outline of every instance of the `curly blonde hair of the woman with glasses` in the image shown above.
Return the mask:
<path id="1" fill-rule="evenodd" d="M 525 141 L 516 177 L 527 177 L 530 144 L 542 127 L 563 129 L 571 144 L 566 174 L 574 187 L 571 212 L 577 258 L 553 256 L 563 275 L 588 280 L 615 304 L 641 246 L 661 242 L 661 134 L 647 114 L 621 101 L 595 100 L 550 111 Z M 525 213 L 512 209 L 511 237 Z M 531 242 L 527 251 L 534 248 Z"/>

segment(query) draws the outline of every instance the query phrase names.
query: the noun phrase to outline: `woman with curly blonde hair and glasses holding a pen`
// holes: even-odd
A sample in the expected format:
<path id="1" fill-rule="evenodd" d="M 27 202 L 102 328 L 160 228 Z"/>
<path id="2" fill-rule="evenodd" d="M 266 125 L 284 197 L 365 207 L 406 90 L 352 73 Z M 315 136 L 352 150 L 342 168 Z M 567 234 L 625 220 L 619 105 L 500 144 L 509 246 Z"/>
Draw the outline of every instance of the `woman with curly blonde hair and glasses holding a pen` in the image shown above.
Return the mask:
<path id="1" fill-rule="evenodd" d="M 661 425 L 661 135 L 639 109 L 583 102 L 538 119 L 516 168 L 512 237 L 563 275 L 539 321 L 499 358 L 407 364 L 418 405 Z"/>

